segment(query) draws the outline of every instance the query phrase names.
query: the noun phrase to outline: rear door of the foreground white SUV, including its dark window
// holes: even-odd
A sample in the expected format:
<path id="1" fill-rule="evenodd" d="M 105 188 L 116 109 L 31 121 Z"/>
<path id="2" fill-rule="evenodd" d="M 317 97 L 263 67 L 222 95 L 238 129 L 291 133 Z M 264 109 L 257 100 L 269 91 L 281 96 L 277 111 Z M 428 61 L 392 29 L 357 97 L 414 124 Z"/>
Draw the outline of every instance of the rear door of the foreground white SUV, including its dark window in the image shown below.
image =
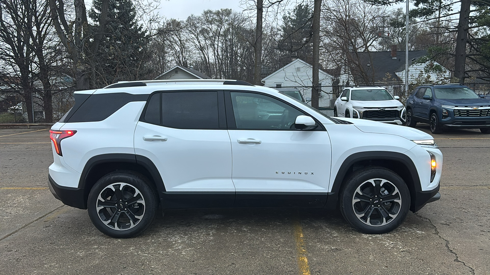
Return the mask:
<path id="1" fill-rule="evenodd" d="M 166 208 L 232 206 L 231 144 L 222 91 L 153 93 L 134 133 L 137 156 L 162 176 Z"/>

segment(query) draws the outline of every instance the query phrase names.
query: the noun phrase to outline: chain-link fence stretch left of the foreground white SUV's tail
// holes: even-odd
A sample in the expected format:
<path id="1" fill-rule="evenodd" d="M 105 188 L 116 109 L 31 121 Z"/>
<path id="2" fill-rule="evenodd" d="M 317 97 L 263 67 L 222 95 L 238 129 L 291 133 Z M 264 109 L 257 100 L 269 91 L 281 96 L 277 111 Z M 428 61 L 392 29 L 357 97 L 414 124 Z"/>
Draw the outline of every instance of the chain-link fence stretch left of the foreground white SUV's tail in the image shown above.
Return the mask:
<path id="1" fill-rule="evenodd" d="M 0 123 L 58 121 L 75 104 L 75 90 L 0 90 Z"/>

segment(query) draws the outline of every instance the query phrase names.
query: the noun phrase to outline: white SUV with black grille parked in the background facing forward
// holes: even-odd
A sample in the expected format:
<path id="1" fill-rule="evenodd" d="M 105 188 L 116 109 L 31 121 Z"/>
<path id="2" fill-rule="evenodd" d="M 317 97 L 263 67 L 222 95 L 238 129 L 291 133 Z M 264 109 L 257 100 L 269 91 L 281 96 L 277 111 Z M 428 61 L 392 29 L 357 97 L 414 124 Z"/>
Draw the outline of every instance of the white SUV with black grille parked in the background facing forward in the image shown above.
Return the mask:
<path id="1" fill-rule="evenodd" d="M 405 122 L 405 107 L 379 86 L 347 87 L 334 104 L 334 116 L 362 118 L 401 125 Z"/>

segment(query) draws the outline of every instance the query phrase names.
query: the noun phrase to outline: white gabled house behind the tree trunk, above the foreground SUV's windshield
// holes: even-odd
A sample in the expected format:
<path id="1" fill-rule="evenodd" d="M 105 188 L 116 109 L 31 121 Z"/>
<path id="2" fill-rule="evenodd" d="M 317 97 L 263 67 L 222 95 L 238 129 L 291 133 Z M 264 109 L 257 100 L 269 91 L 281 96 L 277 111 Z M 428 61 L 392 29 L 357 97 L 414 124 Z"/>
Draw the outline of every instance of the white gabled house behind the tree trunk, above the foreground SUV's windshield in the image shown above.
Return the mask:
<path id="1" fill-rule="evenodd" d="M 323 70 L 319 70 L 319 86 L 332 86 L 334 77 Z M 278 69 L 262 79 L 266 87 L 284 88 L 293 87 L 298 89 L 304 98 L 311 97 L 313 86 L 313 66 L 301 59 L 295 59 L 293 62 Z M 321 87 L 320 87 L 321 91 Z M 328 92 L 328 93 L 326 93 Z M 319 107 L 330 107 L 331 105 L 331 87 L 328 90 L 323 89 L 319 93 Z"/>

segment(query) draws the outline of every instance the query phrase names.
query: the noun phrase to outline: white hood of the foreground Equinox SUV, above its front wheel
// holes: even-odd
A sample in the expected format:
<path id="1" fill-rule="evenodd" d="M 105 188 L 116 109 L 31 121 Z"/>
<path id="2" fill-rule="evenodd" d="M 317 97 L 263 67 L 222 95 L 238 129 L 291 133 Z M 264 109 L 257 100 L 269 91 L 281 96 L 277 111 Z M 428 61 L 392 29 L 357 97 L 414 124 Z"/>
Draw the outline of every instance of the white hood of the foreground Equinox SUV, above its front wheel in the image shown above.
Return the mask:
<path id="1" fill-rule="evenodd" d="M 382 122 L 372 121 L 368 119 L 344 118 L 344 117 L 336 117 L 336 118 L 354 123 L 354 125 L 359 130 L 365 133 L 395 135 L 410 140 L 433 139 L 431 135 L 407 126 L 382 123 Z"/>

